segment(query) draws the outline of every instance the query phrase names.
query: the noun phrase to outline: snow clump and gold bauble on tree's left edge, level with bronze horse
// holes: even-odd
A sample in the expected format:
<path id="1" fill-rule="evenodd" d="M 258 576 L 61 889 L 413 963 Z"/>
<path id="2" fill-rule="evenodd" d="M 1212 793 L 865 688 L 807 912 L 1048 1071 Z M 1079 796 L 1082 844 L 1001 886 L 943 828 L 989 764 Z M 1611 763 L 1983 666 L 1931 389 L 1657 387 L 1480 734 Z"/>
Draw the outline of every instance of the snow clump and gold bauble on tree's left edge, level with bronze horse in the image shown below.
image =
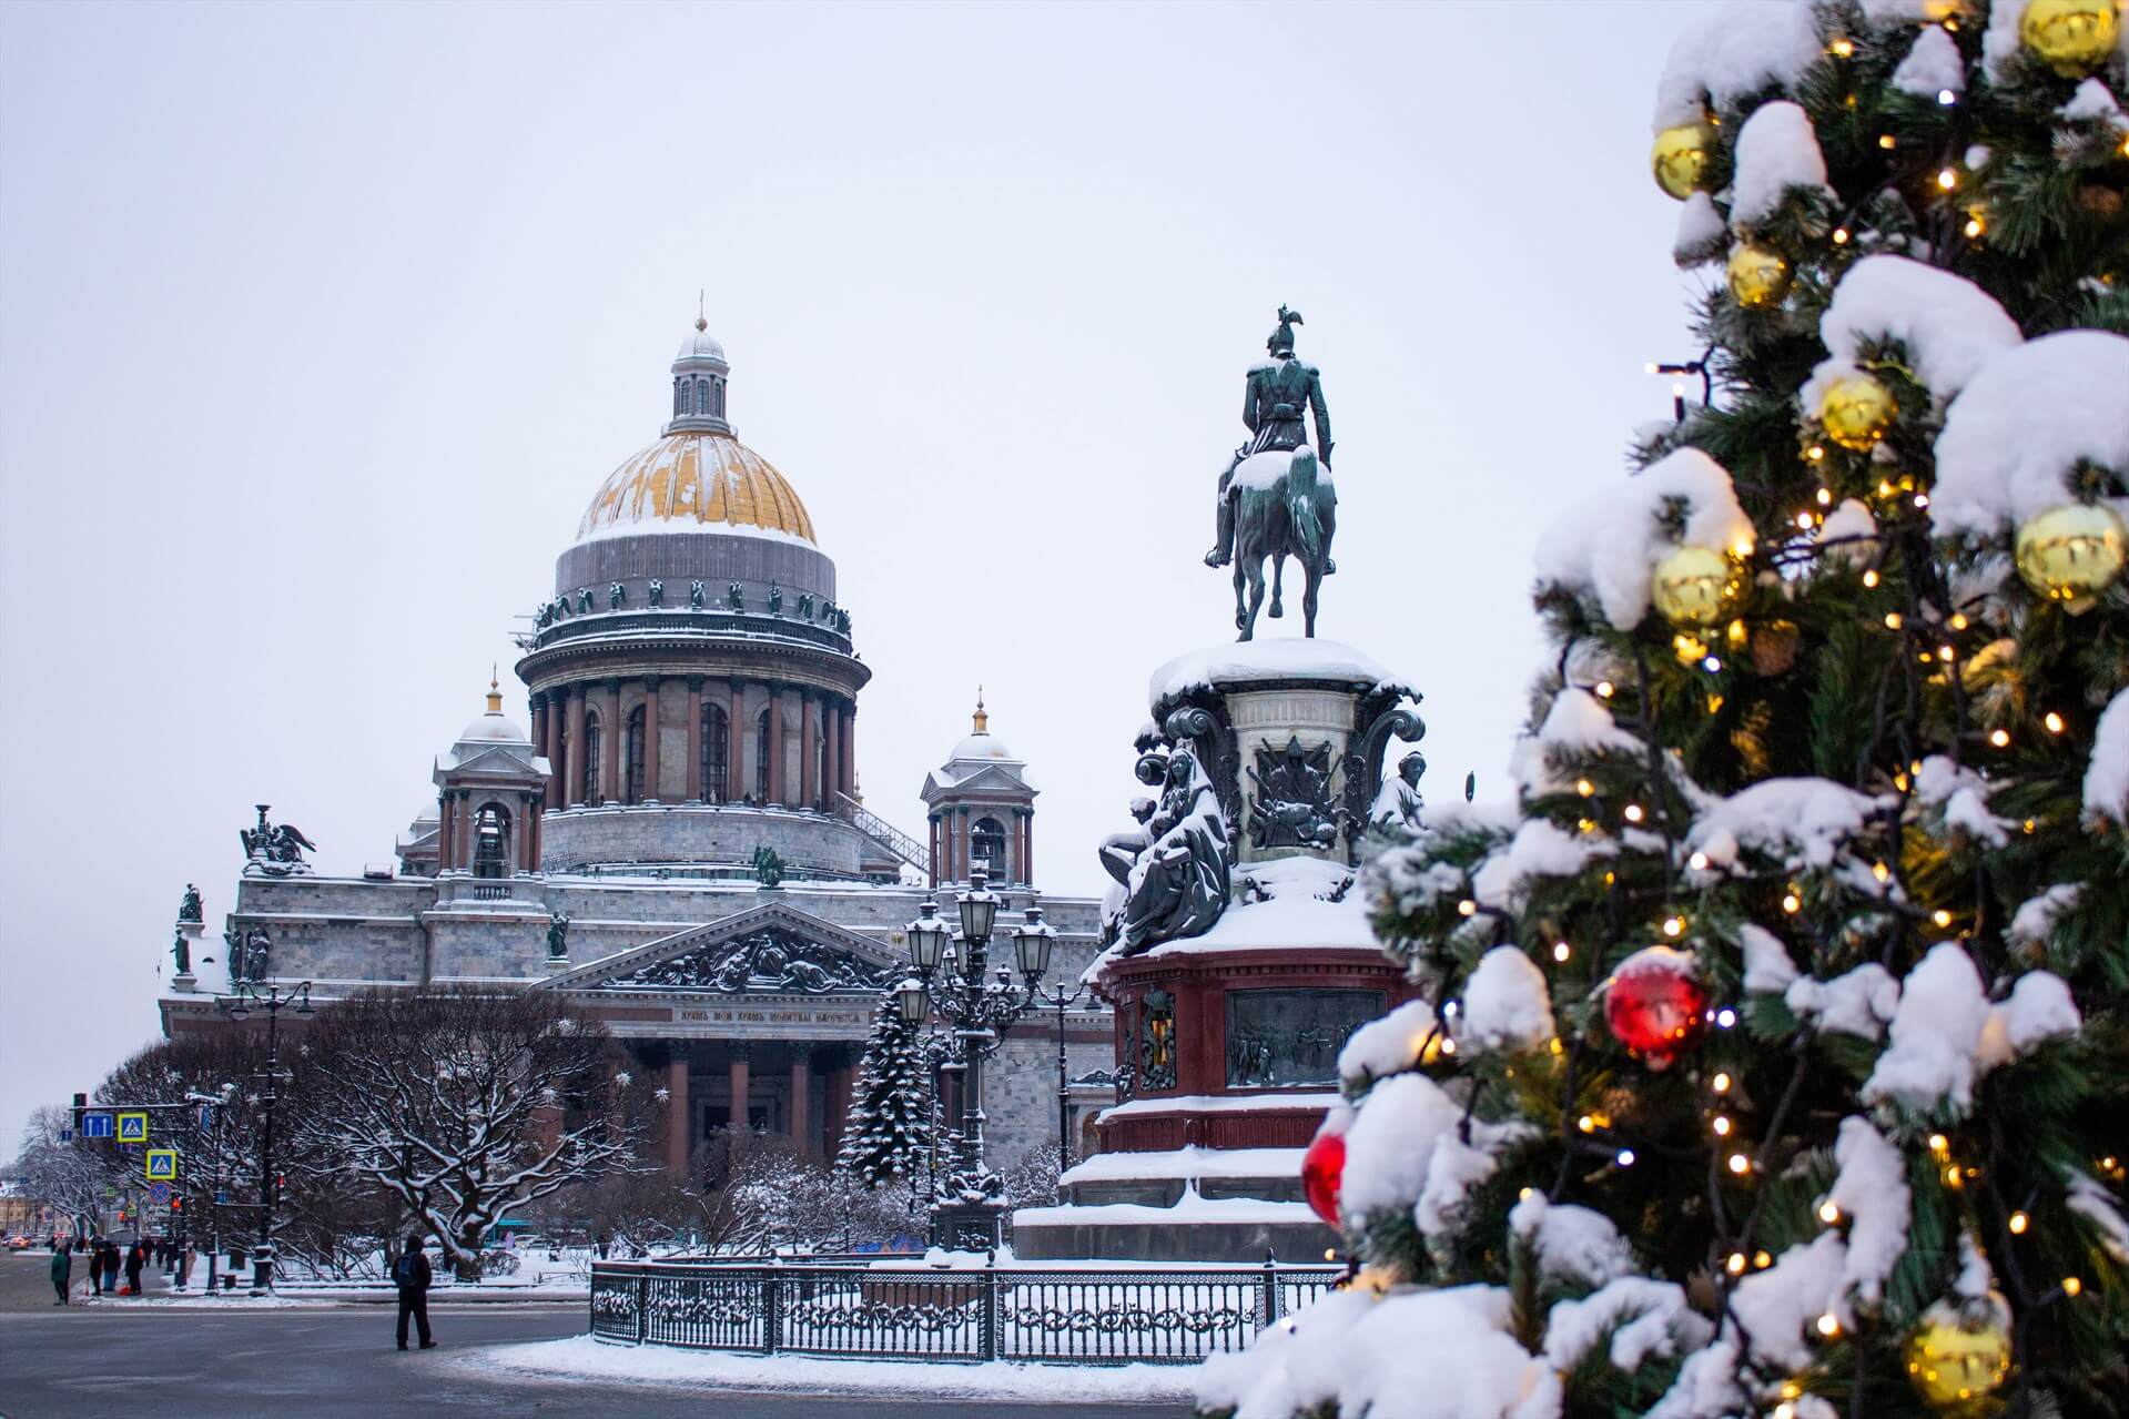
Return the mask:
<path id="1" fill-rule="evenodd" d="M 1648 614 L 1656 562 L 1673 545 L 1661 520 L 1671 499 L 1686 505 L 1682 545 L 1752 550 L 1752 520 L 1737 505 L 1729 471 L 1701 450 L 1682 447 L 1554 520 L 1537 539 L 1537 580 L 1592 592 L 1605 620 L 1633 631 Z"/>

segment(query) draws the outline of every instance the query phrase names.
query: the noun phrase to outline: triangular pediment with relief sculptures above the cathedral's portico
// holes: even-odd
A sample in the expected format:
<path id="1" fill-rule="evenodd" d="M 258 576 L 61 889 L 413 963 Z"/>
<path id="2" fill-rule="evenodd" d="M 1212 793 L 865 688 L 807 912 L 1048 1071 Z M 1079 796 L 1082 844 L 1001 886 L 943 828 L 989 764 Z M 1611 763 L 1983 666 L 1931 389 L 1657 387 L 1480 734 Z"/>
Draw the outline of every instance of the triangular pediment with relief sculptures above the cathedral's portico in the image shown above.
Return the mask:
<path id="1" fill-rule="evenodd" d="M 598 995 L 877 995 L 907 965 L 886 946 L 781 901 L 630 946 L 543 982 Z"/>

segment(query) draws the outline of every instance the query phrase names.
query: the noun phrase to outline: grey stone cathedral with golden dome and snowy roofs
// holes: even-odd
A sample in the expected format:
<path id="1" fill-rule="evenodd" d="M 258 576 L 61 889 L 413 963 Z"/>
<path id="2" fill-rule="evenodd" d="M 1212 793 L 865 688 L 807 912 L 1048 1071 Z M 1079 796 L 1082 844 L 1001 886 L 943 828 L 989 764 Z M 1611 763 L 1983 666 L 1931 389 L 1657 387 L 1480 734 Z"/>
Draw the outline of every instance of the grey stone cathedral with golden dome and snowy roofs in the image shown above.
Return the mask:
<path id="1" fill-rule="evenodd" d="M 658 1146 L 675 1168 L 735 1123 L 832 1157 L 922 899 L 937 891 L 952 912 L 975 874 L 1009 910 L 1037 899 L 1037 790 L 981 703 L 924 782 L 922 839 L 860 801 L 871 669 L 805 503 L 732 430 L 728 379 L 696 322 L 673 360 L 671 422 L 600 484 L 519 637 L 528 718 L 490 686 L 436 759 L 434 805 L 394 867 L 315 874 L 266 846 L 262 810 L 224 923 L 232 980 L 307 980 L 319 1001 L 432 984 L 560 993 L 660 1078 Z M 1096 952 L 1099 903 L 1039 901 L 1058 931 L 1050 980 L 1073 980 Z M 230 1029 L 189 984 L 162 999 L 164 1031 Z M 1090 1074 L 1069 1091 L 1077 1129 L 1111 1102 L 1094 1074 L 1111 1023 L 1077 1012 L 1064 1029 L 1069 1074 Z M 1056 1031 L 1056 1014 L 1033 1014 L 986 1070 L 1001 1168 L 1058 1133 Z"/>

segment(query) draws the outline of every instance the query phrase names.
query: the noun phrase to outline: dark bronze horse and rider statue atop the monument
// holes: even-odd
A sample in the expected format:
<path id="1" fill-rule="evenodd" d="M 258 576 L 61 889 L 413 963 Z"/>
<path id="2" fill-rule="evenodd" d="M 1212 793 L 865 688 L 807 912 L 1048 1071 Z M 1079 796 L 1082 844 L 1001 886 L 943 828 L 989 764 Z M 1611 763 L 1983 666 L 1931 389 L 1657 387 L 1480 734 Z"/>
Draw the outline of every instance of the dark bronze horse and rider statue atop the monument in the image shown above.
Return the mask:
<path id="1" fill-rule="evenodd" d="M 1271 614 L 1284 616 L 1282 573 L 1292 556 L 1307 573 L 1301 611 L 1307 635 L 1316 635 L 1316 597 L 1322 580 L 1337 571 L 1331 537 L 1337 528 L 1337 490 L 1331 486 L 1331 411 L 1324 407 L 1322 373 L 1294 358 L 1294 326 L 1301 313 L 1280 307 L 1280 326 L 1265 341 L 1271 358 L 1250 369 L 1241 394 L 1241 422 L 1250 439 L 1235 450 L 1220 475 L 1218 541 L 1205 554 L 1207 567 L 1235 565 L 1237 639 L 1256 635 L 1256 614 L 1265 605 L 1265 558 L 1271 558 Z M 1307 441 L 1307 418 L 1316 418 L 1316 447 Z"/>

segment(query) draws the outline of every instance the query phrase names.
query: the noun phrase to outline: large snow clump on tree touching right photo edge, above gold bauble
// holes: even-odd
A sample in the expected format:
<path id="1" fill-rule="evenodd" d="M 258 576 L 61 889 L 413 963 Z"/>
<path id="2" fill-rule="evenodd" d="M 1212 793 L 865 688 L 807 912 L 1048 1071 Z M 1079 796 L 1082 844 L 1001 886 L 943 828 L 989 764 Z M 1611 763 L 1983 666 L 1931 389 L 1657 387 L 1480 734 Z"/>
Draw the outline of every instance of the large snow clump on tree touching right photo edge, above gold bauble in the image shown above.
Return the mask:
<path id="1" fill-rule="evenodd" d="M 2080 460 L 2129 473 L 2123 390 L 2129 339 L 2106 330 L 2057 330 L 1988 360 L 1944 413 L 1937 531 L 1993 537 L 2059 507 Z M 2129 499 L 2112 507 L 2129 516 Z"/>

